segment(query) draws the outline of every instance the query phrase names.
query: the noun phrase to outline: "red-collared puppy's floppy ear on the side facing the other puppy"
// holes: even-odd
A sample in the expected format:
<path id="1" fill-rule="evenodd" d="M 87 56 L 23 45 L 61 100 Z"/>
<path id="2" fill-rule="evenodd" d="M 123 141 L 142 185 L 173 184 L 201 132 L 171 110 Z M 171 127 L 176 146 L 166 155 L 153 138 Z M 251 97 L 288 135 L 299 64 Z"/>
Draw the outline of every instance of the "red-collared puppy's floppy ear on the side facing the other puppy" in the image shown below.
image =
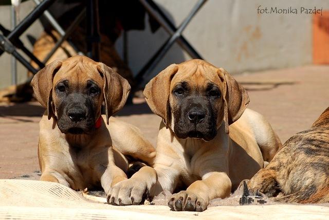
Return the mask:
<path id="1" fill-rule="evenodd" d="M 131 87 L 126 79 L 105 64 L 100 63 L 97 69 L 103 78 L 103 96 L 108 124 L 108 118 L 124 106 Z"/>

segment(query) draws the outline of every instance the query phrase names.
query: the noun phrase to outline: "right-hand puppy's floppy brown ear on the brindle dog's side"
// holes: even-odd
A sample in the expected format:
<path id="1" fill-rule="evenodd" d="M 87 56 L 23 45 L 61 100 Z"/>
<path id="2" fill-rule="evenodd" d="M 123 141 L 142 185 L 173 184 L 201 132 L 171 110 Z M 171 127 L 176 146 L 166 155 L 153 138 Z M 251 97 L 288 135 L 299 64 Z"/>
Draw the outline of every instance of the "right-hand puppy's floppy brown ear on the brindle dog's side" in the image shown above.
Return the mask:
<path id="1" fill-rule="evenodd" d="M 218 69 L 218 76 L 224 87 L 224 123 L 225 132 L 229 134 L 229 125 L 241 117 L 250 100 L 246 89 L 236 82 L 225 69 Z"/>

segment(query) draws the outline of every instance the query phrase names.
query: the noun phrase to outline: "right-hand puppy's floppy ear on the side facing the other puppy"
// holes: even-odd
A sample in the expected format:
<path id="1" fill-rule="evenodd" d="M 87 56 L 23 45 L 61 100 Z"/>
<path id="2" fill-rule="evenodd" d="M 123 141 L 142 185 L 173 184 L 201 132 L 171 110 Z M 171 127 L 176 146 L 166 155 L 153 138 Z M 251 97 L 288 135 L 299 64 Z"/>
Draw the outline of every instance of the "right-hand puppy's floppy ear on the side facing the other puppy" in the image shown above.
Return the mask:
<path id="1" fill-rule="evenodd" d="M 169 104 L 170 83 L 177 71 L 178 66 L 176 64 L 171 64 L 154 77 L 145 86 L 143 91 L 145 100 L 150 106 L 152 112 L 163 119 L 167 128 L 171 121 Z"/>

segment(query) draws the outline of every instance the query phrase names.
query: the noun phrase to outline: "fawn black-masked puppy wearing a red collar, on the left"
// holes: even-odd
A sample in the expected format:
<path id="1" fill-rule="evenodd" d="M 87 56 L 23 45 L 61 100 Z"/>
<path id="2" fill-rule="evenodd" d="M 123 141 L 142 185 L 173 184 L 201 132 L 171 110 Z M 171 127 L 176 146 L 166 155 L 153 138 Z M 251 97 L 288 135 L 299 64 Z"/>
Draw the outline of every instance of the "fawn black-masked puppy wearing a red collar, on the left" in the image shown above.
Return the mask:
<path id="1" fill-rule="evenodd" d="M 135 126 L 110 118 L 130 91 L 111 68 L 82 56 L 57 60 L 34 76 L 32 86 L 47 109 L 40 121 L 41 180 L 75 190 L 101 185 L 107 194 L 127 179 L 125 156 L 152 164 L 151 143 Z M 102 103 L 106 115 L 101 115 Z"/>

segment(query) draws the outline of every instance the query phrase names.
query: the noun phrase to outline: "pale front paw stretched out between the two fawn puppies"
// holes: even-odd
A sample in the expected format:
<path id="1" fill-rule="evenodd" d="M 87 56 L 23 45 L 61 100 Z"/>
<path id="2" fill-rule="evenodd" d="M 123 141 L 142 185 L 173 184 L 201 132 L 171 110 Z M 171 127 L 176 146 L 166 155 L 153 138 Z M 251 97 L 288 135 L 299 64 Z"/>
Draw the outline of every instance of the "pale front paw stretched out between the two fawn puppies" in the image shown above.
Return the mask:
<path id="1" fill-rule="evenodd" d="M 117 206 L 139 205 L 149 197 L 146 182 L 131 178 L 118 182 L 107 194 L 107 203 Z"/>

